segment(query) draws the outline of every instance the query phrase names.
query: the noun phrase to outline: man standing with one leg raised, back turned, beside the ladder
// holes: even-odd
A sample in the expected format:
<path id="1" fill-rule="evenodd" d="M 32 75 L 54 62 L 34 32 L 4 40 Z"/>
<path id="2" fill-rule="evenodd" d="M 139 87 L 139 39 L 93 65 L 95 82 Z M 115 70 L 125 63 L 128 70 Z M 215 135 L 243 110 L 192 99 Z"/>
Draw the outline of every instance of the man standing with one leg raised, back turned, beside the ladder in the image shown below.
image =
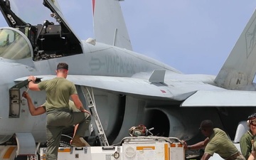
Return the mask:
<path id="1" fill-rule="evenodd" d="M 36 78 L 28 77 L 28 88 L 30 90 L 46 90 L 46 159 L 58 159 L 58 146 L 60 144 L 61 132 L 65 127 L 79 124 L 71 145 L 87 146 L 82 137 L 90 125 L 90 112 L 82 107 L 78 92 L 73 82 L 67 80 L 68 64 L 58 63 L 55 70 L 57 77 L 44 80 L 36 84 Z M 73 100 L 80 112 L 70 112 L 69 100 Z"/>

